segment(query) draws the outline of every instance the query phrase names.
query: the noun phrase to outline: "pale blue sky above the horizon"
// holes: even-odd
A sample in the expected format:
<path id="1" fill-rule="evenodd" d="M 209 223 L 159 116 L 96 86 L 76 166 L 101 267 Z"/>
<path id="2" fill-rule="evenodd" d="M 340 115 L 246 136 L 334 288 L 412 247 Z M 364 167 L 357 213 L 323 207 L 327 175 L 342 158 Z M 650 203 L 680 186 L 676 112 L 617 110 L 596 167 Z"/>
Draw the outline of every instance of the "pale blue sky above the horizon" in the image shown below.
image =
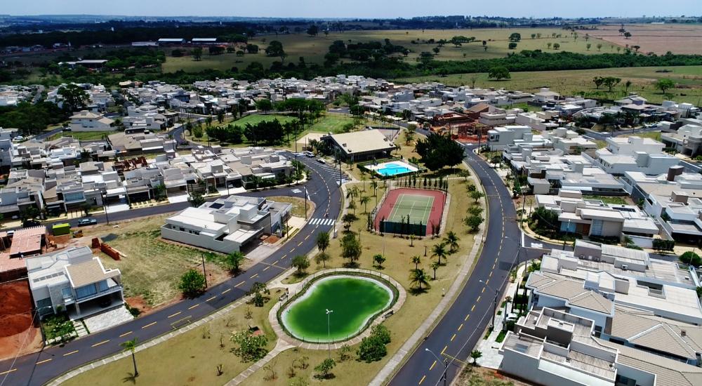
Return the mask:
<path id="1" fill-rule="evenodd" d="M 0 14 L 249 16 L 265 18 L 411 18 L 422 15 L 492 15 L 563 18 L 681 15 L 699 0 L 2 0 Z M 498 5 L 498 6 L 496 6 Z M 672 12 L 678 13 L 672 13 Z M 663 14 L 662 14 L 663 13 Z M 699 12 L 698 12 L 699 13 Z"/>

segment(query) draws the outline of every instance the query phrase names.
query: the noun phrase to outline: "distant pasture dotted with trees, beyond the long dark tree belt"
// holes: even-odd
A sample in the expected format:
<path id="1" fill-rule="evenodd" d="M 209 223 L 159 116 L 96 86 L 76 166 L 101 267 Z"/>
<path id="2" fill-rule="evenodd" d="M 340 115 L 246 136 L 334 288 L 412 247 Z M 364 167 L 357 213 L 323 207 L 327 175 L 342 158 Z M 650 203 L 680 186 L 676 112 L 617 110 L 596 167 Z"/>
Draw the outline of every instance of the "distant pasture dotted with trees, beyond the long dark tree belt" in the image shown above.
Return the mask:
<path id="1" fill-rule="evenodd" d="M 516 50 L 508 49 L 508 37 L 512 32 L 518 32 L 522 35 L 522 41 L 517 44 Z M 589 32 L 588 32 L 589 33 Z M 541 34 L 541 39 L 531 39 L 531 34 Z M 551 37 L 552 34 L 561 34 L 560 38 Z M 259 53 L 246 54 L 237 56 L 234 53 L 225 53 L 223 55 L 210 56 L 204 54 L 202 60 L 196 61 L 190 57 L 173 58 L 167 56 L 166 62 L 162 66 L 164 72 L 176 72 L 183 69 L 185 72 L 198 72 L 204 69 L 231 69 L 237 67 L 243 69 L 251 62 L 260 62 L 263 67 L 269 67 L 274 61 L 280 61 L 280 58 L 268 58 L 263 53 L 263 49 L 272 40 L 280 41 L 283 44 L 285 52 L 288 54 L 287 62 L 297 62 L 298 58 L 305 58 L 307 63 L 324 62 L 324 54 L 329 50 L 329 46 L 335 40 L 343 40 L 347 43 L 367 42 L 367 41 L 384 41 L 390 39 L 392 44 L 397 44 L 408 48 L 411 53 L 404 60 L 414 63 L 423 51 L 432 52 L 432 48 L 437 44 L 428 44 L 425 41 L 429 39 L 450 40 L 453 36 L 475 36 L 476 41 L 470 44 L 463 44 L 461 47 L 454 47 L 453 44 L 446 44 L 437 60 L 467 60 L 467 59 L 486 59 L 486 58 L 501 58 L 509 52 L 521 50 L 546 50 L 548 43 L 558 43 L 561 45 L 560 51 L 570 51 L 576 53 L 597 53 L 597 44 L 602 43 L 601 52 L 611 52 L 616 48 L 616 44 L 600 41 L 590 37 L 585 41 L 585 33 L 579 33 L 578 39 L 573 39 L 569 32 L 564 29 L 557 28 L 486 28 L 486 29 L 391 29 L 391 30 L 369 30 L 369 31 L 348 31 L 348 32 L 330 32 L 329 36 L 319 34 L 319 36 L 310 37 L 307 34 L 287 34 L 279 36 L 255 36 L 249 43 L 258 44 L 261 48 Z M 590 34 L 592 35 L 592 34 Z M 265 41 L 264 41 L 265 39 Z M 412 44 L 415 41 L 416 44 Z M 484 50 L 482 41 L 487 42 L 487 50 Z M 587 44 L 591 44 L 588 51 Z M 622 45 L 623 46 L 623 45 Z M 342 61 L 350 61 L 343 59 Z"/>

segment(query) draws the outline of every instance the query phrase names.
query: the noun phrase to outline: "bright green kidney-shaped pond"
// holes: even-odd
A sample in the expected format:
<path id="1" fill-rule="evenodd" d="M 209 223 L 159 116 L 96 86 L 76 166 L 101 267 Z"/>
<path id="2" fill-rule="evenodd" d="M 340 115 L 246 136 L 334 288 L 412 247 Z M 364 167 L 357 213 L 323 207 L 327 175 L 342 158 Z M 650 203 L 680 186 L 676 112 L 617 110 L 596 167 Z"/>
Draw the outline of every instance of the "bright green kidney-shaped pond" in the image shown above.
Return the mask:
<path id="1" fill-rule="evenodd" d="M 392 291 L 379 281 L 333 276 L 312 283 L 300 298 L 282 311 L 281 316 L 284 326 L 298 339 L 308 342 L 345 340 L 391 302 Z M 326 310 L 332 311 L 329 314 L 329 335 Z"/>

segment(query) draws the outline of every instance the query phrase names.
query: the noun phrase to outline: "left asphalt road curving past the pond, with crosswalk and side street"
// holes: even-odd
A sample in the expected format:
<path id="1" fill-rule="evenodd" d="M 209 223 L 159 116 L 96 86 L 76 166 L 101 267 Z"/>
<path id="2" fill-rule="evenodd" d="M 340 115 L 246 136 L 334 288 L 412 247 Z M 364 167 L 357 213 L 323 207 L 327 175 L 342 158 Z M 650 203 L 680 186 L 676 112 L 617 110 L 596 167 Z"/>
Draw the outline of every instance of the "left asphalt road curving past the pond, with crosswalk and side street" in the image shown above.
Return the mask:
<path id="1" fill-rule="evenodd" d="M 314 160 L 302 159 L 302 161 L 312 170 L 312 179 L 305 185 L 310 199 L 317 205 L 312 218 L 324 218 L 325 213 L 329 215 L 329 218 L 337 218 L 340 212 L 340 193 L 336 180 L 320 168 L 321 165 Z M 263 192 L 246 192 L 245 194 L 281 195 L 286 194 L 286 192 L 287 189 L 274 189 Z M 110 215 L 110 220 L 124 220 L 143 215 L 165 213 L 166 211 L 178 210 L 177 208 L 181 205 L 187 206 L 187 203 L 114 213 L 114 215 Z M 139 342 L 144 342 L 172 331 L 171 323 L 174 321 L 187 317 L 195 321 L 206 317 L 244 296 L 254 282 L 267 282 L 284 272 L 290 267 L 293 257 L 304 255 L 314 248 L 317 233 L 329 232 L 331 227 L 332 225 L 311 225 L 308 222 L 279 251 L 239 276 L 209 288 L 198 298 L 177 302 L 129 323 L 74 340 L 63 347 L 49 347 L 43 352 L 20 357 L 14 364 L 12 360 L 2 361 L 0 362 L 0 384 L 43 385 L 72 368 L 121 351 L 119 344 L 125 340 L 137 338 Z"/>

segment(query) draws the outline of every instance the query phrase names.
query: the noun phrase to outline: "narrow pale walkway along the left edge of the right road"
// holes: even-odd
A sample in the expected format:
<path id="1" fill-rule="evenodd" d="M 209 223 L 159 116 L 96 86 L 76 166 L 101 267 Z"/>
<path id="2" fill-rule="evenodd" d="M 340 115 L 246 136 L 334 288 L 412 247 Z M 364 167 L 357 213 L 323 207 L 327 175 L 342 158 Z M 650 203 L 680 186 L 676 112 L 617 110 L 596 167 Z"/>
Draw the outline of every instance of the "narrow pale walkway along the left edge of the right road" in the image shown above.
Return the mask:
<path id="1" fill-rule="evenodd" d="M 464 161 L 463 164 L 468 166 L 468 164 Z M 468 166 L 470 169 L 470 166 Z M 472 170 L 472 169 L 471 169 Z M 471 173 L 470 179 L 473 181 L 475 186 L 482 187 L 482 184 L 480 181 L 477 179 L 475 172 Z M 483 204 L 485 205 L 486 211 L 488 210 L 487 204 L 485 203 L 485 197 L 481 199 Z M 489 215 L 485 213 L 485 218 L 489 218 Z M 380 369 L 380 372 L 376 374 L 376 377 L 371 380 L 369 385 L 373 386 L 380 386 L 385 383 L 385 380 L 388 380 L 392 373 L 395 372 L 395 368 L 398 368 L 399 366 L 402 365 L 402 362 L 404 361 L 404 357 L 406 355 L 411 354 L 420 342 L 421 339 L 425 338 L 425 336 L 429 335 L 429 331 L 433 328 L 435 322 L 439 320 L 439 317 L 444 314 L 444 311 L 449 308 L 451 303 L 453 302 L 453 298 L 456 296 L 458 291 L 461 290 L 461 287 L 465 283 L 465 280 L 468 278 L 468 275 L 470 274 L 472 270 L 472 263 L 473 261 L 477 258 L 478 252 L 480 251 L 480 246 L 482 245 L 479 240 L 482 239 L 483 233 L 485 232 L 485 229 L 487 227 L 487 222 L 485 222 L 482 227 L 479 229 L 477 234 L 475 234 L 474 240 L 475 243 L 473 244 L 473 248 L 470 250 L 468 253 L 468 258 L 465 259 L 465 262 L 463 262 L 463 267 L 461 267 L 461 272 L 458 272 L 458 276 L 456 276 L 456 279 L 453 280 L 453 284 L 451 284 L 451 287 L 449 287 L 449 291 L 446 291 L 446 295 L 442 300 L 439 302 L 439 304 L 434 308 L 432 313 L 425 319 L 425 321 L 419 326 L 416 331 L 409 337 L 408 340 L 404 342 L 402 347 L 395 352 L 395 354 L 390 358 L 390 361 L 388 361 L 385 366 L 383 366 L 382 369 Z"/>

